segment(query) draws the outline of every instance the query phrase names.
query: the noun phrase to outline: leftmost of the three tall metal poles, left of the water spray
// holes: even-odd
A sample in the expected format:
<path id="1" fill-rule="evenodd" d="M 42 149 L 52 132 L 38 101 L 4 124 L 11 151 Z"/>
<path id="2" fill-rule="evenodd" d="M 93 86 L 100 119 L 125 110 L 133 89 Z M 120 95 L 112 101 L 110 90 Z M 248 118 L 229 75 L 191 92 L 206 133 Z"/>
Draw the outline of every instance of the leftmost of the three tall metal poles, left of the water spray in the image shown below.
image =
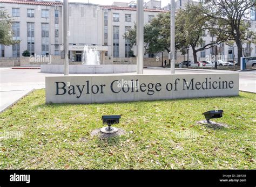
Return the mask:
<path id="1" fill-rule="evenodd" d="M 69 1 L 63 1 L 64 75 L 69 75 Z"/>

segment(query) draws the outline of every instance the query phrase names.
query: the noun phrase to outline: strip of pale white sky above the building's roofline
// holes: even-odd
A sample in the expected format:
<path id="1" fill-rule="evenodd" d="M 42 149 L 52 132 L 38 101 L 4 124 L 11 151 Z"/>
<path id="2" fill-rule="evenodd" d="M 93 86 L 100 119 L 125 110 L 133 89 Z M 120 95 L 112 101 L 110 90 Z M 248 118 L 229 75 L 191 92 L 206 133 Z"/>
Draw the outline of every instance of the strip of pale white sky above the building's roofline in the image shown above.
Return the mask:
<path id="1" fill-rule="evenodd" d="M 132 1 L 132 0 L 131 0 Z M 130 0 L 69 0 L 69 2 L 80 2 L 80 3 L 93 3 L 93 4 L 104 4 L 104 5 L 112 5 L 113 2 L 131 2 Z M 136 0 L 133 0 L 136 2 Z M 149 0 L 144 0 L 144 2 L 148 2 Z M 171 0 L 161 0 L 161 6 L 166 6 L 170 3 Z"/>

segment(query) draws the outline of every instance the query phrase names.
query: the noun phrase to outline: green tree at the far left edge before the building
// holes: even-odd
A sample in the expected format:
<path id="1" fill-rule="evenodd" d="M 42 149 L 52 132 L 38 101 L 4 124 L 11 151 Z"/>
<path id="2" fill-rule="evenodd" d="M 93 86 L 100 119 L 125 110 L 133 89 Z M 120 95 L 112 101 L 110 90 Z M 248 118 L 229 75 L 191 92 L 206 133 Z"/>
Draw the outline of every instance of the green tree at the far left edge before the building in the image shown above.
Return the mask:
<path id="1" fill-rule="evenodd" d="M 4 10 L 0 10 L 0 44 L 12 45 L 19 41 L 12 40 L 12 19 Z"/>

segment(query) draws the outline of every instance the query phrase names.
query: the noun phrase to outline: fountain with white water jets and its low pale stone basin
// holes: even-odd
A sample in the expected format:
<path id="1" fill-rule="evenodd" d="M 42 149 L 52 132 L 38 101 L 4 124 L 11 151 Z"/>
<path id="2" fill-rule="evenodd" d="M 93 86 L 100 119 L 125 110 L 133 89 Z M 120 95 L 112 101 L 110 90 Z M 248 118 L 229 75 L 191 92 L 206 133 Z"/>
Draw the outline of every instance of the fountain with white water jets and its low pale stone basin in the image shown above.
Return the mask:
<path id="1" fill-rule="evenodd" d="M 136 71 L 136 64 L 100 64 L 100 52 L 97 47 L 89 47 L 87 45 L 83 48 L 82 64 L 69 64 L 70 74 L 111 74 L 111 73 L 131 73 Z M 102 51 L 104 53 L 104 51 Z M 104 54 L 102 57 L 105 57 Z M 63 64 L 42 64 L 42 73 L 57 73 L 64 72 Z"/>

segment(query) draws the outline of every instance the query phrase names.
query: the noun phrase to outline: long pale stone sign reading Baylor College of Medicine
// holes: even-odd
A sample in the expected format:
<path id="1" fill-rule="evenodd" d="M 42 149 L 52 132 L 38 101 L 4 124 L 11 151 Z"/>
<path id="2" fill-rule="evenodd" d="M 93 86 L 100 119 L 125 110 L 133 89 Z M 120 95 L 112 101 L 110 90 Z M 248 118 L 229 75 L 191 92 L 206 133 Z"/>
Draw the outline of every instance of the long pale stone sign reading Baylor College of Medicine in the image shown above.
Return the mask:
<path id="1" fill-rule="evenodd" d="M 46 103 L 237 96 L 238 73 L 46 77 Z"/>

